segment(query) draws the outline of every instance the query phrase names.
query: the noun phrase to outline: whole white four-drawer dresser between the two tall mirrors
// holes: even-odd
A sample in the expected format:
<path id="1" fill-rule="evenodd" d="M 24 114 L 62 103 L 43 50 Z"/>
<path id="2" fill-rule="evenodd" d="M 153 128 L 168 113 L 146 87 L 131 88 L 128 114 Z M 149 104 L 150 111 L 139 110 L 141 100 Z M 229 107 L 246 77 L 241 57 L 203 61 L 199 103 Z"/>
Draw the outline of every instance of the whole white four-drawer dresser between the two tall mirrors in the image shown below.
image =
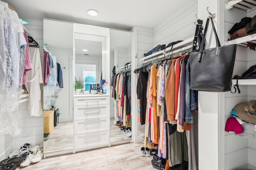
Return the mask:
<path id="1" fill-rule="evenodd" d="M 75 152 L 109 146 L 109 96 L 109 94 L 74 95 Z"/>

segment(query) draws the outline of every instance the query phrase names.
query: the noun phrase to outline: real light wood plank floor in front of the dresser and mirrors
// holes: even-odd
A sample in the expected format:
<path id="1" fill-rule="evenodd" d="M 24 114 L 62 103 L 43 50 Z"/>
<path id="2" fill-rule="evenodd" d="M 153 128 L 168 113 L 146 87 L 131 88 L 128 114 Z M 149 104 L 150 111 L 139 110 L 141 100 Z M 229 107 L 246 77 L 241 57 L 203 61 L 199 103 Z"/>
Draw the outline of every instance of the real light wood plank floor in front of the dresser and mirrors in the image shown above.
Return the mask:
<path id="1" fill-rule="evenodd" d="M 19 170 L 153 170 L 152 156 L 140 156 L 143 143 L 129 143 L 44 158 Z"/>

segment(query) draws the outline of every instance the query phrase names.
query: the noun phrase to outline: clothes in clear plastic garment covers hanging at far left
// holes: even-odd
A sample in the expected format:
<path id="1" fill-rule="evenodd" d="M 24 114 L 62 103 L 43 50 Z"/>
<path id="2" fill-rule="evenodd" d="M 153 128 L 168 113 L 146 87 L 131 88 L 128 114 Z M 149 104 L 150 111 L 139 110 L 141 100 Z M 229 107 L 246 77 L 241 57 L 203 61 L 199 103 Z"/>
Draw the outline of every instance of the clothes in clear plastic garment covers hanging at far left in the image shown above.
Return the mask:
<path id="1" fill-rule="evenodd" d="M 8 4 L 0 6 L 0 134 L 16 136 L 21 131 L 19 101 L 26 48 L 23 33 L 17 13 Z"/>

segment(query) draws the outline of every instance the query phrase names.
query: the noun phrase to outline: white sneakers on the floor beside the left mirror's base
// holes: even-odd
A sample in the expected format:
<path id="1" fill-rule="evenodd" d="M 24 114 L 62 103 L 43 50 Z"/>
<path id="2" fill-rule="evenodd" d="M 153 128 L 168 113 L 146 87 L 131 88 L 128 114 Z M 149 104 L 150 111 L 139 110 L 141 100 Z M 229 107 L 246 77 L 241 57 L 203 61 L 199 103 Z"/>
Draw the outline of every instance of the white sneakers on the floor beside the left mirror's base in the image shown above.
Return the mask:
<path id="1" fill-rule="evenodd" d="M 36 145 L 35 147 L 32 147 L 30 149 L 30 151 L 32 152 L 32 154 L 30 153 L 26 157 L 24 162 L 22 162 L 22 164 L 20 164 L 21 167 L 28 166 L 28 165 L 30 165 L 30 163 L 36 163 L 36 162 L 39 162 L 40 160 L 42 160 L 42 158 L 43 158 L 43 149 L 39 145 Z"/>

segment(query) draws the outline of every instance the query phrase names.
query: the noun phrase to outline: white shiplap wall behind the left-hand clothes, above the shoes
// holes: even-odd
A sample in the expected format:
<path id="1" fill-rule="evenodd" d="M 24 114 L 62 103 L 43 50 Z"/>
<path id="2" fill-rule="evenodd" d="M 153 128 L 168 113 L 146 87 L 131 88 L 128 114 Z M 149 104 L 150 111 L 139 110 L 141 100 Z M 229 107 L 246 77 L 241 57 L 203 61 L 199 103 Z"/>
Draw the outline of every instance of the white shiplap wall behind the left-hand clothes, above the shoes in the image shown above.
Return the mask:
<path id="1" fill-rule="evenodd" d="M 25 20 L 28 20 L 30 23 L 24 26 L 28 29 L 28 32 L 32 35 L 34 40 L 40 45 L 39 50 L 43 68 L 43 21 Z M 42 86 L 41 96 L 43 96 Z M 10 154 L 12 150 L 19 149 L 24 143 L 36 145 L 43 141 L 43 117 L 30 117 L 28 114 L 28 102 L 24 102 L 21 107 L 21 134 L 16 137 L 12 137 L 9 134 L 0 135 L 0 160 L 8 158 L 8 154 Z"/>

